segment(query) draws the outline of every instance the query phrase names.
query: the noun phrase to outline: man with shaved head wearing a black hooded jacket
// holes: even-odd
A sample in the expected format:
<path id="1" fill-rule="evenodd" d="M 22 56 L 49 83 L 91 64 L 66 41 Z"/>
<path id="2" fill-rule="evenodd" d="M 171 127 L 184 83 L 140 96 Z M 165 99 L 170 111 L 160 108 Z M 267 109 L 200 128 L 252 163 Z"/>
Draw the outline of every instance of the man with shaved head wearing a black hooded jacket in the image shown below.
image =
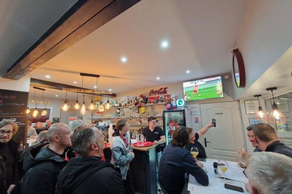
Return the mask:
<path id="1" fill-rule="evenodd" d="M 24 157 L 21 194 L 54 194 L 60 171 L 66 165 L 64 149 L 71 145 L 71 129 L 64 123 L 50 126 L 49 145 L 31 149 Z"/>

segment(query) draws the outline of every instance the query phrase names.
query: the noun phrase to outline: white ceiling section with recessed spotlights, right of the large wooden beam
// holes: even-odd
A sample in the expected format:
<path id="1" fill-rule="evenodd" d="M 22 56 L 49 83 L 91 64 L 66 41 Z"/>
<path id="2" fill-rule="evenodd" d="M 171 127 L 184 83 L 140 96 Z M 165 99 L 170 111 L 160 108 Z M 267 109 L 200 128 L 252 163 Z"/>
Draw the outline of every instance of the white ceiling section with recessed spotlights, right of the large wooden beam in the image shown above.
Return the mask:
<path id="1" fill-rule="evenodd" d="M 98 88 L 119 94 L 230 72 L 245 2 L 142 0 L 29 76 L 68 85 L 77 81 L 81 87 L 80 72 L 99 74 Z M 163 39 L 168 49 L 160 48 Z M 126 64 L 121 56 L 127 56 Z M 93 85 L 94 78 L 84 78 L 84 87 Z"/>

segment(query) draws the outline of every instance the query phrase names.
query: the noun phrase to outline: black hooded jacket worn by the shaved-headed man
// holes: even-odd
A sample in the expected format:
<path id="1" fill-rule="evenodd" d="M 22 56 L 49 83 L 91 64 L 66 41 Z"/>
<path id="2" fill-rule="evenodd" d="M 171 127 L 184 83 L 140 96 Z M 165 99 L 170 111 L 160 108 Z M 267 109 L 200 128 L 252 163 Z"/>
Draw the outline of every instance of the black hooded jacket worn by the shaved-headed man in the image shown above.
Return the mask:
<path id="1" fill-rule="evenodd" d="M 32 148 L 24 156 L 21 194 L 54 194 L 58 175 L 67 162 L 47 146 L 36 150 L 39 147 Z"/>

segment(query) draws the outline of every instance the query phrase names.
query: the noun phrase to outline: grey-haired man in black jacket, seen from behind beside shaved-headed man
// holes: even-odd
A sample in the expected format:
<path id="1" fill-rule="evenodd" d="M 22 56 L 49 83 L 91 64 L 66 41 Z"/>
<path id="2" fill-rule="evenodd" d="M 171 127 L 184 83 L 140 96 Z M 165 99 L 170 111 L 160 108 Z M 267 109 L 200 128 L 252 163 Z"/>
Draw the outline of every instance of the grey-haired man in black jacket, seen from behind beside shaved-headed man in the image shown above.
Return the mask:
<path id="1" fill-rule="evenodd" d="M 75 132 L 72 145 L 78 157 L 60 172 L 55 194 L 125 194 L 121 174 L 101 161 L 104 136 L 94 127 Z"/>

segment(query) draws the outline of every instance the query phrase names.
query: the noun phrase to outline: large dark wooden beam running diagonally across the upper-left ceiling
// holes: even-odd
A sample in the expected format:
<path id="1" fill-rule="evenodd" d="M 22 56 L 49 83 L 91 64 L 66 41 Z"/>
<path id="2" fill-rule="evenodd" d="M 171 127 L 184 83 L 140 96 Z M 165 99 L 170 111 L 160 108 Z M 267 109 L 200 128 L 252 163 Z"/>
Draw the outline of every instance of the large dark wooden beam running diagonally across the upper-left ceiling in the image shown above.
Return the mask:
<path id="1" fill-rule="evenodd" d="M 19 80 L 139 1 L 78 0 L 7 70 L 4 78 Z"/>

